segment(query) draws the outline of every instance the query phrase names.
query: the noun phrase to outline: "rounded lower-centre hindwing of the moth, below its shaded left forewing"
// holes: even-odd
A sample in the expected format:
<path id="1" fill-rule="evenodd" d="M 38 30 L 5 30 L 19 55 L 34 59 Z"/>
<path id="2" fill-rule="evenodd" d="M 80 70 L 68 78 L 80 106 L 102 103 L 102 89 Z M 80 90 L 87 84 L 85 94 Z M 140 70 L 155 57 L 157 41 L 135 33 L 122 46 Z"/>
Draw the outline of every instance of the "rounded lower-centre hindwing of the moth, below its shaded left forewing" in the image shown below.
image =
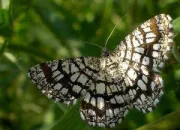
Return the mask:
<path id="1" fill-rule="evenodd" d="M 81 102 L 82 119 L 99 127 L 112 128 L 121 123 L 129 111 L 130 101 L 124 90 L 114 81 L 98 79 L 93 82 Z"/>

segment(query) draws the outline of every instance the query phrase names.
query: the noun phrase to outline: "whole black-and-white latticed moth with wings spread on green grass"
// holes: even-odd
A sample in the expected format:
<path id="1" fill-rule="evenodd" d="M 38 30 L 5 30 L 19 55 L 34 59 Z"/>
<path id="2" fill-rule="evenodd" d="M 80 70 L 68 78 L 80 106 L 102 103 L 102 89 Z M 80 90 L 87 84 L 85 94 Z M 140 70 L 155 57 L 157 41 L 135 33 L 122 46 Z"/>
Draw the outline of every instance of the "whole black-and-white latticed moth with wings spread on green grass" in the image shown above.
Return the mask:
<path id="1" fill-rule="evenodd" d="M 80 99 L 80 116 L 89 125 L 115 127 L 132 108 L 153 111 L 163 95 L 159 72 L 174 43 L 171 21 L 169 15 L 157 15 L 112 52 L 41 63 L 28 76 L 56 102 L 70 105 Z"/>

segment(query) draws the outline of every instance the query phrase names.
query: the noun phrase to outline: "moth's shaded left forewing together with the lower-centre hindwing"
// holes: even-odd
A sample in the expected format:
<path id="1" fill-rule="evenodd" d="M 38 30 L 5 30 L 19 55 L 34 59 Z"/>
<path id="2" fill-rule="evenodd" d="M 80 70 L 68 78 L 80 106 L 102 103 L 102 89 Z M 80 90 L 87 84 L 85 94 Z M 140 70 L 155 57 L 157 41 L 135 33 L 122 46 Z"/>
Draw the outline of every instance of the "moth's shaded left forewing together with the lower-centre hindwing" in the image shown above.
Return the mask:
<path id="1" fill-rule="evenodd" d="M 100 71 L 100 59 L 54 60 L 30 68 L 28 75 L 47 97 L 67 105 L 82 98 L 81 117 L 90 125 L 114 127 L 128 112 L 124 87 Z"/>

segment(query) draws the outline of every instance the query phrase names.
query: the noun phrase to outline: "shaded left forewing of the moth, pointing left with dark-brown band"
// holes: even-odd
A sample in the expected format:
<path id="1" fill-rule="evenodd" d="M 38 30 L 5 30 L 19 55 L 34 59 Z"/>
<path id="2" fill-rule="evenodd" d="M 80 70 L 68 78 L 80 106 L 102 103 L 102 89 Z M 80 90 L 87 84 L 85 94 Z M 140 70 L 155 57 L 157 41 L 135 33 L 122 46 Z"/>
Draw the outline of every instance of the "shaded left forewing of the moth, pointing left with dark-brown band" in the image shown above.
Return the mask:
<path id="1" fill-rule="evenodd" d="M 30 68 L 28 76 L 47 97 L 69 105 L 87 92 L 98 64 L 99 59 L 92 57 L 54 60 Z"/>

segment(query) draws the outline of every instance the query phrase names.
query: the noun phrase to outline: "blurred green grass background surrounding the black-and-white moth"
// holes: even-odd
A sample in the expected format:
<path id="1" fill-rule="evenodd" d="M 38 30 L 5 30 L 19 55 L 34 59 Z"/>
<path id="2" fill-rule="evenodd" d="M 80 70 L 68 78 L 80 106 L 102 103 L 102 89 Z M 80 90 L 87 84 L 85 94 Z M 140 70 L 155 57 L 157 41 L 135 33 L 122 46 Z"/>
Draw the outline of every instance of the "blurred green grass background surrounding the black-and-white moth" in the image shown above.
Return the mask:
<path id="1" fill-rule="evenodd" d="M 79 103 L 66 107 L 43 96 L 27 78 L 28 68 L 53 59 L 99 56 L 101 50 L 87 42 L 103 47 L 124 15 L 109 50 L 160 13 L 178 18 L 180 1 L 0 0 L 0 130 L 103 130 L 81 120 Z M 178 51 L 180 19 L 174 25 Z M 180 64 L 173 55 L 161 75 L 165 94 L 157 109 L 146 115 L 132 110 L 114 130 L 180 129 Z"/>

